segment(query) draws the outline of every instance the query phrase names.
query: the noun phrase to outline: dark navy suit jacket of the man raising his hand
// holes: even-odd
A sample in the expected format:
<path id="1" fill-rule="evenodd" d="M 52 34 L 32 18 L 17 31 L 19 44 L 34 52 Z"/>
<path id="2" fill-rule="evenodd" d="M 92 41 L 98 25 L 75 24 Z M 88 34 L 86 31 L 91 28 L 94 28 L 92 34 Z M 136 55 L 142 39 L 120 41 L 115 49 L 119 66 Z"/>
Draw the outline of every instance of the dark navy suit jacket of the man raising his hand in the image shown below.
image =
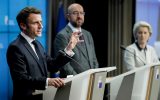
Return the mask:
<path id="1" fill-rule="evenodd" d="M 47 71 L 55 72 L 70 60 L 61 54 L 56 59 L 51 58 L 45 53 L 40 42 L 36 42 L 42 55 L 41 63 L 21 35 L 8 47 L 7 62 L 13 79 L 13 99 L 15 100 L 31 96 L 36 89 L 45 89 Z"/>

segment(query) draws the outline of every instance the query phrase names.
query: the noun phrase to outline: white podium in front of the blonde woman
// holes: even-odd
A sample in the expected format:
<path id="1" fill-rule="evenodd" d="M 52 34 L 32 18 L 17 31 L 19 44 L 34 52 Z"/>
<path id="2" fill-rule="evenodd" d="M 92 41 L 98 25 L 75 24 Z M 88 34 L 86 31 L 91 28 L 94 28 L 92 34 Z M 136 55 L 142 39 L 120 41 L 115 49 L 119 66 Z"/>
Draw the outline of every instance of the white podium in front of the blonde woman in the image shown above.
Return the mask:
<path id="1" fill-rule="evenodd" d="M 107 78 L 108 100 L 158 100 L 159 75 L 160 63 L 156 63 Z"/>

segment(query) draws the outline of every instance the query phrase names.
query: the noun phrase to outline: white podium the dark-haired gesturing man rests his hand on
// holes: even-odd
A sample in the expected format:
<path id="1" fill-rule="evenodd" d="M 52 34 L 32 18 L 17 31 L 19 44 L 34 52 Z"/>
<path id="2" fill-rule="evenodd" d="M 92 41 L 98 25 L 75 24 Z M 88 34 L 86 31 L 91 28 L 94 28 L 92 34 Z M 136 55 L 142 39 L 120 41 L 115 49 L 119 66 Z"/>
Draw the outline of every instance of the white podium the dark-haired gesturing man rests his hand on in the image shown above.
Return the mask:
<path id="1" fill-rule="evenodd" d="M 90 69 L 67 78 L 64 87 L 48 87 L 43 91 L 43 100 L 103 100 L 107 72 L 115 69 Z"/>

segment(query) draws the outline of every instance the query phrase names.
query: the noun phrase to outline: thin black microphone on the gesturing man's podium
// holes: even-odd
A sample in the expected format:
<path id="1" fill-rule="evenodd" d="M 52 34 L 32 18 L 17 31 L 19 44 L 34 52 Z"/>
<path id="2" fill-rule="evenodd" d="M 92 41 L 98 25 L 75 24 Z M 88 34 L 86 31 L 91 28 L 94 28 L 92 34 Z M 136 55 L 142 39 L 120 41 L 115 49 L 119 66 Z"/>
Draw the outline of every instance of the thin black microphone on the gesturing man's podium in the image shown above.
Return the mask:
<path id="1" fill-rule="evenodd" d="M 69 55 L 67 55 L 64 51 L 59 50 L 59 53 L 62 54 L 63 56 L 68 57 L 69 59 L 71 59 L 71 60 L 78 66 L 78 67 L 77 67 L 77 66 L 72 66 L 77 73 L 80 73 L 80 72 L 83 72 L 83 71 L 84 71 L 84 70 L 83 70 L 83 67 L 80 65 L 80 63 L 77 62 L 77 61 L 76 61 L 75 59 L 73 59 L 72 57 L 70 57 Z"/>

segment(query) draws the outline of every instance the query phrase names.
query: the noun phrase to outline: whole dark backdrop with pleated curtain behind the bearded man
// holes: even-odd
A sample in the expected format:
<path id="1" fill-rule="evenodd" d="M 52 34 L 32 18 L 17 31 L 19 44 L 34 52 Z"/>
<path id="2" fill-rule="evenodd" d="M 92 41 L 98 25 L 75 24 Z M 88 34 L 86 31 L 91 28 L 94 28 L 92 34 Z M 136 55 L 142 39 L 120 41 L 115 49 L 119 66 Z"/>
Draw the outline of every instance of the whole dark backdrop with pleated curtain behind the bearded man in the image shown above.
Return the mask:
<path id="1" fill-rule="evenodd" d="M 57 21 L 59 0 L 50 0 L 51 23 L 48 39 L 49 50 L 53 55 L 53 41 Z M 84 7 L 85 22 L 83 28 L 92 33 L 99 67 L 116 66 L 117 70 L 111 76 L 122 73 L 123 63 L 120 45 L 133 42 L 132 27 L 135 22 L 135 0 L 61 0 L 66 11 L 71 3 L 79 3 Z M 51 48 L 51 49 L 50 49 Z M 49 51 L 49 52 L 50 52 Z"/>

